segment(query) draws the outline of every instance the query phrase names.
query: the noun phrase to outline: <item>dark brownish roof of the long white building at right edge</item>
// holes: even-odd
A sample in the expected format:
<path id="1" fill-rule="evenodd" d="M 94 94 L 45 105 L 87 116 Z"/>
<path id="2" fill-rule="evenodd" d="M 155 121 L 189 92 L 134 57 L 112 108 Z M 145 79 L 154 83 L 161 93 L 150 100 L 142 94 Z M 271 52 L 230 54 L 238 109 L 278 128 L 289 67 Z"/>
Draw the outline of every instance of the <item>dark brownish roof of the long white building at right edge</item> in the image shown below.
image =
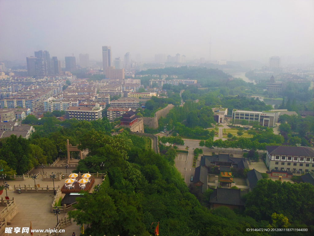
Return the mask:
<path id="1" fill-rule="evenodd" d="M 271 155 L 314 157 L 314 150 L 309 147 L 266 146 L 266 150 Z"/>

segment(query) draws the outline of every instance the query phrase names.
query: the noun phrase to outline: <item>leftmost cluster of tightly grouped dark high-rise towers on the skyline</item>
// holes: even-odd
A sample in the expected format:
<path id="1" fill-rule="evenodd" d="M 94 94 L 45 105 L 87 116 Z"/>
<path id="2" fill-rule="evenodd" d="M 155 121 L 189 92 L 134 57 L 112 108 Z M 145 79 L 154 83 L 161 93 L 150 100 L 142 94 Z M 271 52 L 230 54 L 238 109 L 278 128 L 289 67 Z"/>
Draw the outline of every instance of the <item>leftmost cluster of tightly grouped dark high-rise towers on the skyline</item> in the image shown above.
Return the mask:
<path id="1" fill-rule="evenodd" d="M 50 59 L 48 51 L 35 52 L 35 57 L 27 57 L 27 71 L 29 76 L 60 75 L 61 63 L 57 57 Z"/>

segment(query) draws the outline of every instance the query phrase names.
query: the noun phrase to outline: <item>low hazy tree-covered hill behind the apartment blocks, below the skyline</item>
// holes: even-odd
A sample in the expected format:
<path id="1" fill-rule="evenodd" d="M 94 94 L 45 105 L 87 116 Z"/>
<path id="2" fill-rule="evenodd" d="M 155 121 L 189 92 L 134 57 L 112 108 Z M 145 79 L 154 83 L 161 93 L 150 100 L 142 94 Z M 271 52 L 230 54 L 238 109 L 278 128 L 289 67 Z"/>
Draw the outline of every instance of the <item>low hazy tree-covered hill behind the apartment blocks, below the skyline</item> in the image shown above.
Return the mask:
<path id="1" fill-rule="evenodd" d="M 161 78 L 162 74 L 167 74 L 170 79 L 171 75 L 178 76 L 178 79 L 191 79 L 191 80 L 197 80 L 198 83 L 201 84 L 208 84 L 217 82 L 217 86 L 220 85 L 220 83 L 228 81 L 231 76 L 224 73 L 222 70 L 218 69 L 207 69 L 206 67 L 187 67 L 182 66 L 180 68 L 174 68 L 174 67 L 166 67 L 165 69 L 148 69 L 148 70 L 142 70 L 137 73 L 138 75 L 159 75 L 159 78 Z"/>

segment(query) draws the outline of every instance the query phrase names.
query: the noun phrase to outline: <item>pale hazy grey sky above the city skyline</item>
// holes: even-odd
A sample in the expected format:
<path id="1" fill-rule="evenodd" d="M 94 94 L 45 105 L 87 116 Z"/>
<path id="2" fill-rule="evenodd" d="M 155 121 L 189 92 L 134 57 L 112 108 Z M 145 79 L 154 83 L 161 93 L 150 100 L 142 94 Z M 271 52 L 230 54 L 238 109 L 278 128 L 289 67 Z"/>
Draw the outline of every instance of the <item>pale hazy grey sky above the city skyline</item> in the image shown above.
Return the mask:
<path id="1" fill-rule="evenodd" d="M 26 63 L 38 50 L 102 60 L 105 45 L 113 57 L 208 59 L 210 35 L 212 59 L 313 57 L 314 1 L 0 0 L 0 60 Z"/>

